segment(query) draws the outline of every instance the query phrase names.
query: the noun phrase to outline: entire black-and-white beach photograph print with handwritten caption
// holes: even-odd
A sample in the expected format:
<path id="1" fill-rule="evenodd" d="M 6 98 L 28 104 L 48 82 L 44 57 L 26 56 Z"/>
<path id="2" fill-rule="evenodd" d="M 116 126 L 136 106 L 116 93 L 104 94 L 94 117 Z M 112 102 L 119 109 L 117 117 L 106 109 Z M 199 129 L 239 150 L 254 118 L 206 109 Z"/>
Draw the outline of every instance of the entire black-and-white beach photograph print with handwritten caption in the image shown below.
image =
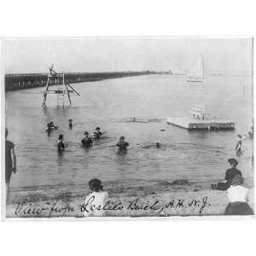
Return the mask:
<path id="1" fill-rule="evenodd" d="M 254 216 L 253 38 L 2 48 L 3 218 Z"/>

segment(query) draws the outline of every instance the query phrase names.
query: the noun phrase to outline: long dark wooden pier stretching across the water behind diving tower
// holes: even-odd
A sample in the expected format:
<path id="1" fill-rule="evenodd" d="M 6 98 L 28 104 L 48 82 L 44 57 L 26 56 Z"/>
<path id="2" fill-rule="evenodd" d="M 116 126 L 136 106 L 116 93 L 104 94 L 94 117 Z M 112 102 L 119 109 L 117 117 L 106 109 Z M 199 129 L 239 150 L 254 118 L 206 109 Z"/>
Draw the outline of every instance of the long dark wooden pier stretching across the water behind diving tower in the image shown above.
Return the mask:
<path id="1" fill-rule="evenodd" d="M 116 79 L 131 76 L 148 75 L 154 72 L 113 72 L 113 73 L 65 73 L 68 84 L 99 81 L 103 79 Z M 48 73 L 20 73 L 6 74 L 4 76 L 5 90 L 21 90 L 44 87 L 47 83 Z M 62 84 L 62 78 L 50 80 L 49 85 Z"/>

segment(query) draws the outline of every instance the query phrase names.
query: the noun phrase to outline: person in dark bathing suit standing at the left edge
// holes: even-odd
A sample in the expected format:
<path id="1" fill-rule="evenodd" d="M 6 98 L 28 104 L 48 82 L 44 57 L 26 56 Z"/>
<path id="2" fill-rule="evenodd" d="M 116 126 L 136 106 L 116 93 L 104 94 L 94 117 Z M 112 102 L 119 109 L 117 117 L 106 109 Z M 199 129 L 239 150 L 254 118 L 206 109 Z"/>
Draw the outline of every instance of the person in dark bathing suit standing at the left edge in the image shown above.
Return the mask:
<path id="1" fill-rule="evenodd" d="M 7 140 L 8 129 L 5 128 L 5 195 L 9 199 L 9 183 L 12 172 L 16 173 L 15 144 Z"/>

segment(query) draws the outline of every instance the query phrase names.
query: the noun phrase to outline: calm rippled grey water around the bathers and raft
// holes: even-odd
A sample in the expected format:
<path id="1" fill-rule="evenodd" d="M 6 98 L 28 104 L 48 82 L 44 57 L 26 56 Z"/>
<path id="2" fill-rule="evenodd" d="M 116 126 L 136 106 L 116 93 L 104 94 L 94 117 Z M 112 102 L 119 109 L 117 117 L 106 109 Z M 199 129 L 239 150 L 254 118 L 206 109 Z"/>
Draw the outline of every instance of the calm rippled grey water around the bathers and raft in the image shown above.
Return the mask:
<path id="1" fill-rule="evenodd" d="M 9 139 L 15 142 L 18 172 L 12 188 L 86 184 L 102 181 L 188 178 L 192 181 L 224 177 L 227 159 L 235 156 L 236 135 L 253 123 L 253 80 L 245 76 L 212 76 L 205 83 L 187 83 L 183 76 L 150 75 L 74 84 L 81 96 L 73 96 L 73 108 L 56 109 L 56 96 L 31 89 L 6 95 Z M 28 92 L 25 94 L 24 92 Z M 192 104 L 205 105 L 216 116 L 236 122 L 236 131 L 187 131 L 166 124 L 167 116 L 187 115 Z M 131 117 L 149 119 L 132 123 Z M 73 130 L 67 120 L 72 118 Z M 151 119 L 151 120 L 150 120 Z M 49 121 L 59 125 L 50 136 Z M 90 149 L 80 147 L 84 131 L 96 126 L 106 136 Z M 160 131 L 165 130 L 165 131 Z M 67 150 L 58 154 L 58 135 L 64 134 Z M 131 147 L 117 154 L 114 145 L 125 136 Z M 143 148 L 159 142 L 163 148 Z M 253 176 L 252 141 L 243 142 L 239 169 Z"/>

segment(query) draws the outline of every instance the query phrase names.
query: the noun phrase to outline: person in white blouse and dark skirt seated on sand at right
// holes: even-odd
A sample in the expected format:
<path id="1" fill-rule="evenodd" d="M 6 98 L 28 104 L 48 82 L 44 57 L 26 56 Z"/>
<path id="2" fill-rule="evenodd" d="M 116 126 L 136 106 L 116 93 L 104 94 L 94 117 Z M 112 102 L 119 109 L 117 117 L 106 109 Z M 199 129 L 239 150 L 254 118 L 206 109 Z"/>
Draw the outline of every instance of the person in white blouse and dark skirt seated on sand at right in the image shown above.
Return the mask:
<path id="1" fill-rule="evenodd" d="M 241 186 L 243 178 L 236 175 L 227 189 L 230 203 L 225 208 L 224 215 L 253 215 L 253 210 L 247 203 L 248 189 Z"/>

